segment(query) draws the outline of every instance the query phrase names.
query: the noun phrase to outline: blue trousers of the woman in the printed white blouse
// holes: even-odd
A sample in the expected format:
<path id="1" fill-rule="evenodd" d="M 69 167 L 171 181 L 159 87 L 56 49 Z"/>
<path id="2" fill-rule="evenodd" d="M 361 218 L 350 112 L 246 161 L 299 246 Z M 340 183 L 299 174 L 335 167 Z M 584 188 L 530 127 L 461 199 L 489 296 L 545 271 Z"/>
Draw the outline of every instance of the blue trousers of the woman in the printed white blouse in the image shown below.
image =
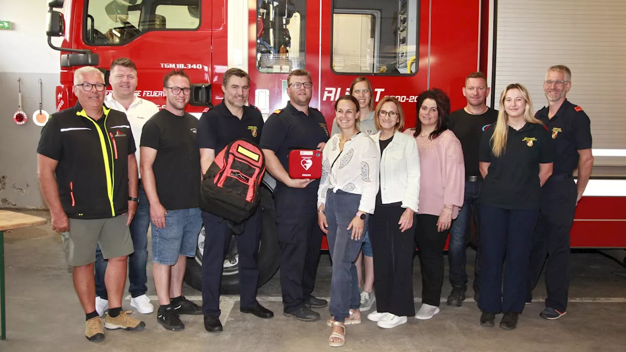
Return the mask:
<path id="1" fill-rule="evenodd" d="M 356 212 L 359 211 L 360 194 L 351 194 L 329 190 L 326 194 L 326 221 L 328 222 L 328 248 L 332 258 L 331 304 L 330 311 L 335 321 L 346 321 L 350 309 L 359 309 L 359 277 L 356 272 L 356 260 L 365 240 L 351 239 L 352 229 L 346 230 Z M 363 230 L 367 228 L 367 218 Z"/>

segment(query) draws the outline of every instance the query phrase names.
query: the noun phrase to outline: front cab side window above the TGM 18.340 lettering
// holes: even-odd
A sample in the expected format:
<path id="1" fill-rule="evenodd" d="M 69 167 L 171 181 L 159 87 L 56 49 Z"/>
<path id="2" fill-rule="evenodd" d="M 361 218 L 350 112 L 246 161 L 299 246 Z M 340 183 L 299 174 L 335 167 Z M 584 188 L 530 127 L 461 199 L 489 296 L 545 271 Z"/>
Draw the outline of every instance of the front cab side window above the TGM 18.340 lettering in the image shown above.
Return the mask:
<path id="1" fill-rule="evenodd" d="M 85 43 L 121 45 L 147 31 L 197 29 L 200 0 L 88 0 Z"/>

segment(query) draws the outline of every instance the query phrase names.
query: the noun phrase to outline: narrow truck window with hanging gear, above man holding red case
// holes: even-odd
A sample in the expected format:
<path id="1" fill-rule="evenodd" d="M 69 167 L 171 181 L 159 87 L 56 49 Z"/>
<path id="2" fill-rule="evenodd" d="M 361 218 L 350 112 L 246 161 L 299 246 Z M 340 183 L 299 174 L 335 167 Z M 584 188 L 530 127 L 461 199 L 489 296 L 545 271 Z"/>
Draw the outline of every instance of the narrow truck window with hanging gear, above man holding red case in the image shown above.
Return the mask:
<path id="1" fill-rule="evenodd" d="M 257 0 L 257 69 L 289 73 L 305 66 L 306 0 Z"/>

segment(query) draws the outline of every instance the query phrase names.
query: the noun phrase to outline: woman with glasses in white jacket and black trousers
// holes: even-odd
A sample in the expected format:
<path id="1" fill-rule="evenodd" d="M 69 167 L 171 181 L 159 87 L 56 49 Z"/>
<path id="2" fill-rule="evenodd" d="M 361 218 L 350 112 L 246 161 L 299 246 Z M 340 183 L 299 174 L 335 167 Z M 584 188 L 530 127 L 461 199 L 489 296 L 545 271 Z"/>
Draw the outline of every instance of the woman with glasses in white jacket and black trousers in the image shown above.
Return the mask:
<path id="1" fill-rule="evenodd" d="M 394 328 L 415 315 L 413 303 L 414 215 L 418 211 L 419 153 L 415 139 L 402 133 L 404 112 L 396 98 L 386 96 L 376 106 L 371 138 L 381 153 L 380 189 L 376 214 L 369 222 L 374 250 L 377 310 L 367 319 Z"/>

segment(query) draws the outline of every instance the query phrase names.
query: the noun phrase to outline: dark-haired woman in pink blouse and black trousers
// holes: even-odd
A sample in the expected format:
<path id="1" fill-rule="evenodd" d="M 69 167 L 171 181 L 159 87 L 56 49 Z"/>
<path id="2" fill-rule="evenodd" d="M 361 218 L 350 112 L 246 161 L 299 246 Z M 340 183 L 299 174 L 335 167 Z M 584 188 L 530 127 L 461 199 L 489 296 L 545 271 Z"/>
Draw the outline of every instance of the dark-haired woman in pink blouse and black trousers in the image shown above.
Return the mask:
<path id="1" fill-rule="evenodd" d="M 416 319 L 439 313 L 443 286 L 443 247 L 453 219 L 463 205 L 465 167 L 461 142 L 448 130 L 450 100 L 433 89 L 418 99 L 416 128 L 406 130 L 418 143 L 419 209 L 416 217 L 419 264 L 422 273 L 422 306 Z"/>

